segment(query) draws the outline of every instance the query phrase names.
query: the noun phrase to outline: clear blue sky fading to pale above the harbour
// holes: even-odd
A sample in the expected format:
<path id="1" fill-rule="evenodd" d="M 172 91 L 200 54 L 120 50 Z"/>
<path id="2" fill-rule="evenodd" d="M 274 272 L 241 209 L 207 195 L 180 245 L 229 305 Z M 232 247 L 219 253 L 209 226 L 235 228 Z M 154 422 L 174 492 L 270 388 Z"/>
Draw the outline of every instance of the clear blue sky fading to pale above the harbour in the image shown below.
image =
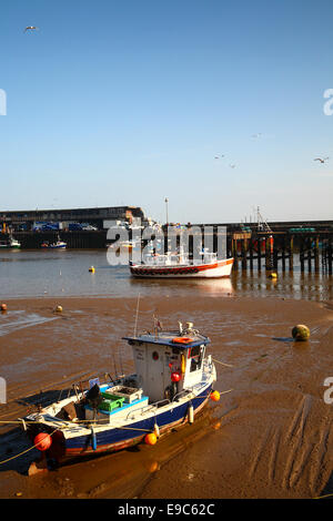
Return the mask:
<path id="1" fill-rule="evenodd" d="M 331 0 L 3 0 L 0 212 L 165 222 L 168 197 L 170 222 L 332 219 L 332 17 Z"/>

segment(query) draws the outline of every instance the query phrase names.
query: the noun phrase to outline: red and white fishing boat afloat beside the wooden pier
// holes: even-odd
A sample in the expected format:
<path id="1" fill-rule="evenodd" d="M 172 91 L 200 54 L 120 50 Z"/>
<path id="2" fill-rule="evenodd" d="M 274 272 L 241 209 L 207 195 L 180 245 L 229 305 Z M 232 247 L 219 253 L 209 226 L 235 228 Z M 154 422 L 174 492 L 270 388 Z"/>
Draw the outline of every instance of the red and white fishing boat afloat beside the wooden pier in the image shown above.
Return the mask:
<path id="1" fill-rule="evenodd" d="M 233 258 L 218 259 L 216 253 L 206 251 L 192 262 L 184 253 L 150 253 L 141 264 L 130 263 L 130 270 L 140 278 L 222 278 L 230 277 L 232 265 Z"/>

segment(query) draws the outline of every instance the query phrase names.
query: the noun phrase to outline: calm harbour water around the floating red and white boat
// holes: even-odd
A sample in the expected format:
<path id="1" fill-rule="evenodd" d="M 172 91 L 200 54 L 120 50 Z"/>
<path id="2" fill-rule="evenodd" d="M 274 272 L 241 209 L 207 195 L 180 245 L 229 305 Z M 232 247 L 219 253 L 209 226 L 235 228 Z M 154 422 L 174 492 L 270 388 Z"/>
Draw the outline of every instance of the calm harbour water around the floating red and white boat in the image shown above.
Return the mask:
<path id="1" fill-rule="evenodd" d="M 0 297 L 40 296 L 278 296 L 331 300 L 333 278 L 326 274 L 279 273 L 269 279 L 264 270 L 233 272 L 231 279 L 134 279 L 128 266 L 111 266 L 105 251 L 0 252 Z M 89 267 L 94 266 L 95 273 Z"/>

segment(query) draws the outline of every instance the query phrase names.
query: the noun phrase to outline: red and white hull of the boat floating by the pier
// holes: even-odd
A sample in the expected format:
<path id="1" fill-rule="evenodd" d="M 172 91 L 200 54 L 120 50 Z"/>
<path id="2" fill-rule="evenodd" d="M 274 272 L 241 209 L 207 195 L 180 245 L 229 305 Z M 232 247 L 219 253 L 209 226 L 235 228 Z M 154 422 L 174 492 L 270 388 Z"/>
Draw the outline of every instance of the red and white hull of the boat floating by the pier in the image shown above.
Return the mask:
<path id="1" fill-rule="evenodd" d="M 230 277 L 233 258 L 211 264 L 150 266 L 134 264 L 130 266 L 131 275 L 140 278 L 226 278 Z"/>

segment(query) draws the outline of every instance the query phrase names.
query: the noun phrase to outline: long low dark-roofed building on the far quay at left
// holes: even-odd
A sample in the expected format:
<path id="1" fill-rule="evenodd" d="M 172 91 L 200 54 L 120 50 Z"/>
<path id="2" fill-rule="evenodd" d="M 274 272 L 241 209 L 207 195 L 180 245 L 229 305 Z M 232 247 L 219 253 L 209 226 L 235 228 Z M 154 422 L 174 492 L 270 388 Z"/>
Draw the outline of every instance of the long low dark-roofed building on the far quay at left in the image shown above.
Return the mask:
<path id="1" fill-rule="evenodd" d="M 0 225 L 13 231 L 32 229 L 34 223 L 63 223 L 62 227 L 68 227 L 69 223 L 88 223 L 98 229 L 103 228 L 104 221 L 125 221 L 132 223 L 133 219 L 145 221 L 144 213 L 139 206 L 105 206 L 95 208 L 72 208 L 72 210 L 31 210 L 31 211 L 0 211 Z"/>

